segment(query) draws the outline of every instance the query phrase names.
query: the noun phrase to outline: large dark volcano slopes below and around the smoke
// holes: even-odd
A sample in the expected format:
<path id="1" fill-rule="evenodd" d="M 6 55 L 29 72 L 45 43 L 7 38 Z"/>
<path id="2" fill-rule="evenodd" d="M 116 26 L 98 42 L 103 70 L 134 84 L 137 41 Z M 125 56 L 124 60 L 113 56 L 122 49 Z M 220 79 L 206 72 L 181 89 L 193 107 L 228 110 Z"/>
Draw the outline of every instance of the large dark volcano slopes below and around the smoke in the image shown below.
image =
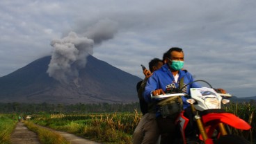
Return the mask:
<path id="1" fill-rule="evenodd" d="M 61 83 L 46 72 L 51 56 L 42 57 L 0 78 L 1 102 L 52 104 L 137 102 L 141 78 L 88 55 L 77 82 Z"/>

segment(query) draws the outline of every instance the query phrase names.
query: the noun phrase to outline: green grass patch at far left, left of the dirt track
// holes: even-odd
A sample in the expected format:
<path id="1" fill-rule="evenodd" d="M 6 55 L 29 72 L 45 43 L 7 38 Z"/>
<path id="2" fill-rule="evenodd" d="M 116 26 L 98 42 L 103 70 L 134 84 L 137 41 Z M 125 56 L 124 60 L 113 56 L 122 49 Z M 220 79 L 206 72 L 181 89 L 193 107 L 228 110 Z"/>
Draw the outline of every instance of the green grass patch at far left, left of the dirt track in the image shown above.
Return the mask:
<path id="1" fill-rule="evenodd" d="M 16 114 L 0 114 L 0 144 L 10 143 L 10 134 L 15 129 L 17 120 Z"/>

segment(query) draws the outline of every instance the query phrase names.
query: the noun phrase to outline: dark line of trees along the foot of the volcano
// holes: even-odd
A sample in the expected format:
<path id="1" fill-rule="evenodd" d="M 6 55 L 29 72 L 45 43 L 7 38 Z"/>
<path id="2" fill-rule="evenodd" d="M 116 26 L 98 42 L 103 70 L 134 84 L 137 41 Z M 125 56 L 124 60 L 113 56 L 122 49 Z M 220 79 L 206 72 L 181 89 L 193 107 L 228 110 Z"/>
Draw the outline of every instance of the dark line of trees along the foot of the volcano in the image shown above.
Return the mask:
<path id="1" fill-rule="evenodd" d="M 132 112 L 134 109 L 140 109 L 138 102 L 133 103 L 77 103 L 77 104 L 50 104 L 42 103 L 19 103 L 8 102 L 0 103 L 0 113 L 16 113 L 16 114 L 38 114 L 47 112 L 50 114 L 88 114 L 95 112 Z"/>

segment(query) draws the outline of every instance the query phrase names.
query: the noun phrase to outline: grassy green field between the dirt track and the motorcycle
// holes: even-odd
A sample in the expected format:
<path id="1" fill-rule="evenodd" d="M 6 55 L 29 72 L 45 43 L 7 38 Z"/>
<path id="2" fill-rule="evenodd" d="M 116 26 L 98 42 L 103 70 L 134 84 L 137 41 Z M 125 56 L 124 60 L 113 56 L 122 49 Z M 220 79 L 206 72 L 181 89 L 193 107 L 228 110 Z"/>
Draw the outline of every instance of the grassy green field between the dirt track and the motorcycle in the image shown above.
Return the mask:
<path id="1" fill-rule="evenodd" d="M 77 134 L 104 143 L 131 143 L 141 115 L 135 113 L 51 115 L 35 118 L 33 123 Z"/>

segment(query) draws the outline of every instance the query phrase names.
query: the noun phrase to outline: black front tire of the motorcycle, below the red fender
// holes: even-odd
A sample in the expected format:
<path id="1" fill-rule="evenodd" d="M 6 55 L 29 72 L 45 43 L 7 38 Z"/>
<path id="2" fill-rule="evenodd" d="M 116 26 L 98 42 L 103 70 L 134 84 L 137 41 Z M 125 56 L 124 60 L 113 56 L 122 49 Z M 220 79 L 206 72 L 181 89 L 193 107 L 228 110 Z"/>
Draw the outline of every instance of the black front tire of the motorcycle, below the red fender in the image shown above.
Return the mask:
<path id="1" fill-rule="evenodd" d="M 242 138 L 237 135 L 228 134 L 225 136 L 221 136 L 221 138 L 218 138 L 216 141 L 216 144 L 250 144 L 249 141 L 246 140 L 246 138 Z"/>

